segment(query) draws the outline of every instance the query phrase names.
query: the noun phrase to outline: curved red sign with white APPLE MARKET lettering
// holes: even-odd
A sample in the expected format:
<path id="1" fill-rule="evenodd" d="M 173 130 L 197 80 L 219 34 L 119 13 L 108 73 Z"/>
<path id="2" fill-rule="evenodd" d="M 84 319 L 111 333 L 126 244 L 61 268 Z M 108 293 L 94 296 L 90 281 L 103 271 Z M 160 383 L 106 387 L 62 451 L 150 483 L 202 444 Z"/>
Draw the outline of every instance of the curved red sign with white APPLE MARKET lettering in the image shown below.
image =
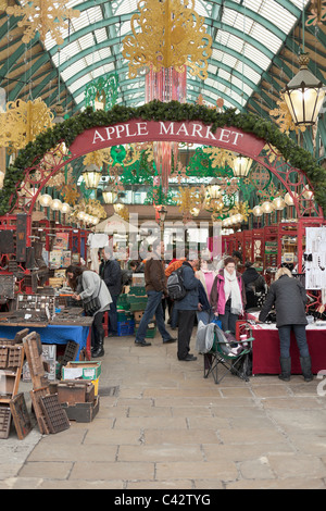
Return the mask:
<path id="1" fill-rule="evenodd" d="M 211 125 L 198 121 L 142 121 L 131 120 L 111 126 L 86 129 L 70 147 L 74 158 L 105 147 L 146 141 L 184 141 L 215 146 L 229 151 L 255 158 L 265 146 L 265 141 L 252 134 L 233 126 L 224 126 L 212 132 Z"/>

